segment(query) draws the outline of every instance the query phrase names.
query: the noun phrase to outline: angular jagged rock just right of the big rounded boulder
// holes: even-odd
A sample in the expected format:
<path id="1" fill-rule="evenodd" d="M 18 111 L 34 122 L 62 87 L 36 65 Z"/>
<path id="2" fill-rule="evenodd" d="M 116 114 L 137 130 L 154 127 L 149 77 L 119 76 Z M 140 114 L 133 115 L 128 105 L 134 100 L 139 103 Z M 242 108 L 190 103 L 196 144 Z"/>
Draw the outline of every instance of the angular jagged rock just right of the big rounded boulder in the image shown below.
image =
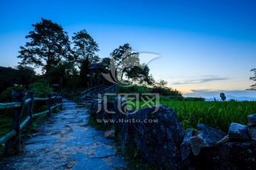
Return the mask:
<path id="1" fill-rule="evenodd" d="M 191 149 L 194 155 L 198 155 L 203 147 L 213 147 L 215 142 L 223 139 L 224 132 L 215 130 L 208 125 L 198 123 L 196 134 L 191 137 Z"/>

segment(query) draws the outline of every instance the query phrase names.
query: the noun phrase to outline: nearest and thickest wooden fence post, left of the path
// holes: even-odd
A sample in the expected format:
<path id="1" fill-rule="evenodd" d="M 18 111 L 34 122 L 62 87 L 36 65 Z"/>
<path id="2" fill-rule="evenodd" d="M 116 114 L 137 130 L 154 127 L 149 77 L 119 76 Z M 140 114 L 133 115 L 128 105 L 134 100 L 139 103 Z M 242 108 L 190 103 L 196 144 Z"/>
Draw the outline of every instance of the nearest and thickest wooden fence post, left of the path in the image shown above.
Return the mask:
<path id="1" fill-rule="evenodd" d="M 11 130 L 16 131 L 16 135 L 7 140 L 4 154 L 9 155 L 11 152 L 21 151 L 21 115 L 23 113 L 23 108 L 26 101 L 26 92 L 13 91 L 12 94 L 13 102 L 21 102 L 21 106 L 13 108 L 13 123 L 11 125 Z"/>

